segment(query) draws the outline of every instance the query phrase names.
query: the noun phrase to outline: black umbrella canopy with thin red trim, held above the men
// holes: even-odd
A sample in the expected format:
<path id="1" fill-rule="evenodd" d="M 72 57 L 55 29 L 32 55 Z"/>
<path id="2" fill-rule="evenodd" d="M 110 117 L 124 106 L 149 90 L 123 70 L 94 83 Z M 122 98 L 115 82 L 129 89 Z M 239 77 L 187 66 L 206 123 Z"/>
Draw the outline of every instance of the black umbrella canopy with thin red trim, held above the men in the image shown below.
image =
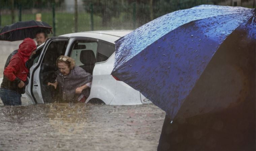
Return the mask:
<path id="1" fill-rule="evenodd" d="M 43 21 L 19 21 L 3 27 L 0 32 L 0 40 L 17 41 L 25 38 L 34 39 L 38 31 L 50 34 L 52 27 Z"/>

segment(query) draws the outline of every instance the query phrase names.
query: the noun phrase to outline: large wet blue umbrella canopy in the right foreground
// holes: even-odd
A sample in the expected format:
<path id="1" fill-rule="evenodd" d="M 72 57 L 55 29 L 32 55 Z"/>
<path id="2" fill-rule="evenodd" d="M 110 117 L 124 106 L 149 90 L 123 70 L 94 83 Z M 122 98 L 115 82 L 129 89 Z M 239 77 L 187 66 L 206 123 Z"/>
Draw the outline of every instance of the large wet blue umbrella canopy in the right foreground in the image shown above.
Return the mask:
<path id="1" fill-rule="evenodd" d="M 255 42 L 254 9 L 200 5 L 117 40 L 112 74 L 171 119 L 219 111 L 255 90 Z"/>

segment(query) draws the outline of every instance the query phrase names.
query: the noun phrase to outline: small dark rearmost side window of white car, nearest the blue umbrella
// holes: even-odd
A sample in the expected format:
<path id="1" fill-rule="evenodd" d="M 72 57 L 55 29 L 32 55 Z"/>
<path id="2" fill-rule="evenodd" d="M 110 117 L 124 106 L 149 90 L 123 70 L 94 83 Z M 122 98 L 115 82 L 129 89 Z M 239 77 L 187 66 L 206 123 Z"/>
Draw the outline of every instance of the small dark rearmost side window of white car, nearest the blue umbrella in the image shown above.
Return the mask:
<path id="1" fill-rule="evenodd" d="M 114 52 L 115 52 L 114 44 L 104 42 L 104 41 L 99 41 L 96 62 L 106 61 Z"/>

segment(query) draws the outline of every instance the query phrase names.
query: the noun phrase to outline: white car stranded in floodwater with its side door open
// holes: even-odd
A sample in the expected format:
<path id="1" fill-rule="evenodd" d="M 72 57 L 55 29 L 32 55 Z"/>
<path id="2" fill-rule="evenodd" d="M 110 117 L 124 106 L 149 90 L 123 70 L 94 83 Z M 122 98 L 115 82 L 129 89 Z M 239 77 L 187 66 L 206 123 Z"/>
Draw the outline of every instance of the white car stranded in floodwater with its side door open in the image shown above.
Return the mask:
<path id="1" fill-rule="evenodd" d="M 26 95 L 34 103 L 53 102 L 56 59 L 60 55 L 72 57 L 77 66 L 92 73 L 93 80 L 88 102 L 110 105 L 151 103 L 139 91 L 111 75 L 115 61 L 115 41 L 131 31 L 92 31 L 66 34 L 48 39 L 33 56 Z"/>

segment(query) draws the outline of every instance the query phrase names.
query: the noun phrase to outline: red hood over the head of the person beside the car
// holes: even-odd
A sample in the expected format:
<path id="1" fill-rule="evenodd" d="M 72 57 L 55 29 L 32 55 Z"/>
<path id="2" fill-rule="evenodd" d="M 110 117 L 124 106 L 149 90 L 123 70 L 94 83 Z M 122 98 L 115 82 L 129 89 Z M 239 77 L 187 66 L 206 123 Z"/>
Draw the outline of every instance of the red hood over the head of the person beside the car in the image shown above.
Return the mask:
<path id="1" fill-rule="evenodd" d="M 25 38 L 18 49 L 19 53 L 24 57 L 25 62 L 29 59 L 30 54 L 34 50 L 36 50 L 36 43 L 31 38 Z"/>

